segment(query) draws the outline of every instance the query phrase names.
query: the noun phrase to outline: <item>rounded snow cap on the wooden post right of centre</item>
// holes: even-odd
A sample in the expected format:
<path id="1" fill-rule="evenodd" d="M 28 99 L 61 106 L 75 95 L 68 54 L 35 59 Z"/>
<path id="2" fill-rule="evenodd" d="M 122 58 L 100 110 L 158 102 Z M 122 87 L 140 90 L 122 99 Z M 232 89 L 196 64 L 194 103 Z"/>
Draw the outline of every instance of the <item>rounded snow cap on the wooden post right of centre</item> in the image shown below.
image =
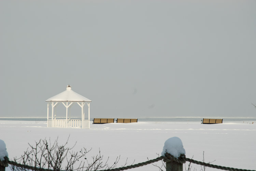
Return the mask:
<path id="1" fill-rule="evenodd" d="M 174 157 L 178 158 L 181 154 L 186 154 L 185 149 L 180 138 L 172 137 L 165 141 L 163 146 L 162 156 L 165 156 L 165 153 L 169 153 Z"/>

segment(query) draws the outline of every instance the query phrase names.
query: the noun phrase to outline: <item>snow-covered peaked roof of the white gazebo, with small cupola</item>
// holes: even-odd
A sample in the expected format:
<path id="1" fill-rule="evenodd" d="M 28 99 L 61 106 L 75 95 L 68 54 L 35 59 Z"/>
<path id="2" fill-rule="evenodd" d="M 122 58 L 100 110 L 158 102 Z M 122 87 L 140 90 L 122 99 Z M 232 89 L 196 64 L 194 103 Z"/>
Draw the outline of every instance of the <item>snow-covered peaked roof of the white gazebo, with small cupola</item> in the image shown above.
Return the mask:
<path id="1" fill-rule="evenodd" d="M 45 102 L 91 102 L 91 100 L 74 92 L 68 85 L 65 91 L 48 98 Z"/>

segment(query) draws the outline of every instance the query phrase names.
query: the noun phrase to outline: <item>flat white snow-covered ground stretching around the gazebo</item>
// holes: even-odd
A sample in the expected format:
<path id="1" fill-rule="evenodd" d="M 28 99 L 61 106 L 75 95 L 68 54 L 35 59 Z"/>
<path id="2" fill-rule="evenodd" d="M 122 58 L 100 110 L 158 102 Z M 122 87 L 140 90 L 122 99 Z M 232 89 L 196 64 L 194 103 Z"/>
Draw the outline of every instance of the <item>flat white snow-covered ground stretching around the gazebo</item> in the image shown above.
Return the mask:
<path id="1" fill-rule="evenodd" d="M 254 124 L 252 124 L 254 122 Z M 44 121 L 0 121 L 0 139 L 6 144 L 9 158 L 20 156 L 27 149 L 28 143 L 34 144 L 40 139 L 53 142 L 58 137 L 59 144 L 64 144 L 69 135 L 68 145 L 76 143 L 75 151 L 82 147 L 92 148 L 86 156 L 97 155 L 99 148 L 104 158 L 114 161 L 121 156 L 118 167 L 144 162 L 157 158 L 168 138 L 179 137 L 186 157 L 212 164 L 240 169 L 256 170 L 256 123 L 255 121 L 225 122 L 223 124 L 200 124 L 200 122 L 138 122 L 90 124 L 90 129 L 47 128 Z M 155 163 L 160 166 L 159 163 Z M 188 162 L 186 162 L 187 168 Z M 201 166 L 191 164 L 200 171 Z M 10 169 L 6 169 L 9 171 Z M 159 170 L 147 165 L 132 171 Z M 183 167 L 185 170 L 185 167 Z M 218 170 L 206 168 L 207 171 Z"/>

